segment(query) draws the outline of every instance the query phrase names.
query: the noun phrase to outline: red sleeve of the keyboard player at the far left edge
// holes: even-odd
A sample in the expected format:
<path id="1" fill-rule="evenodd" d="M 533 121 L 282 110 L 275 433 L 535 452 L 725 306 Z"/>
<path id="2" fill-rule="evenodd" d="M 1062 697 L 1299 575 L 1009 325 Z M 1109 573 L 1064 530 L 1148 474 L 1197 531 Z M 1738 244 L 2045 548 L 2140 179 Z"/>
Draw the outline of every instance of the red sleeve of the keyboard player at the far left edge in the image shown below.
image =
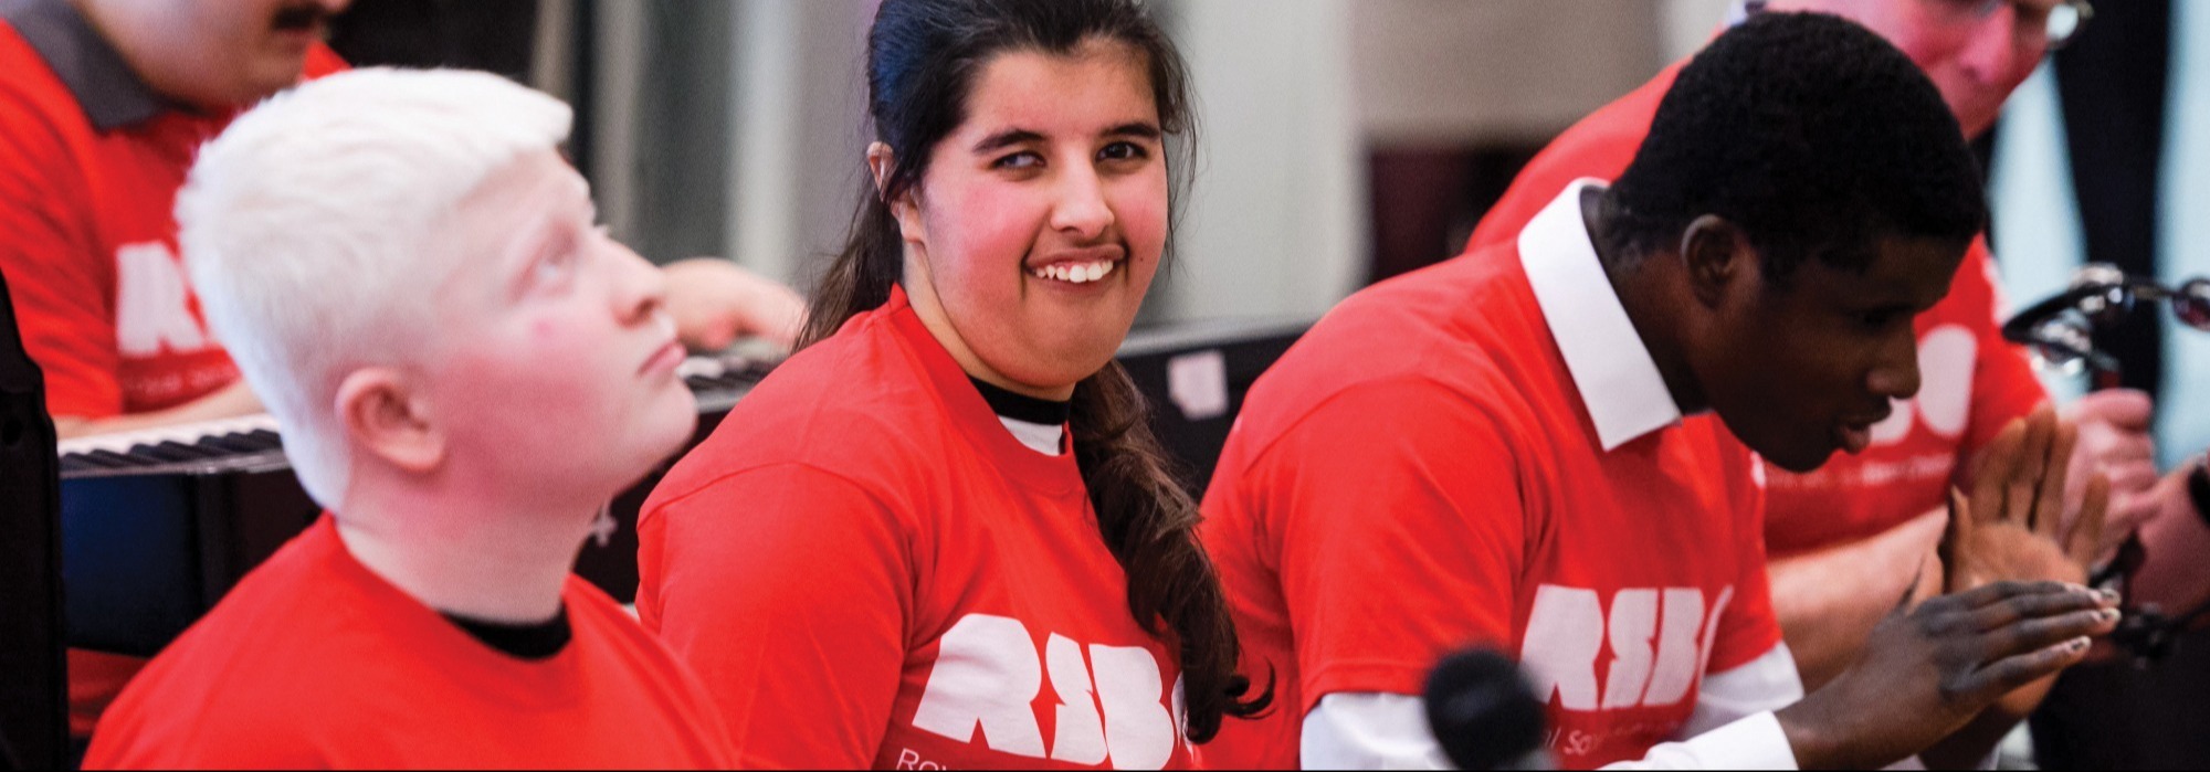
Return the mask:
<path id="1" fill-rule="evenodd" d="M 113 262 L 99 254 L 91 192 L 44 106 L 0 84 L 0 274 L 22 344 L 46 375 L 46 412 L 113 417 L 124 410 Z"/>

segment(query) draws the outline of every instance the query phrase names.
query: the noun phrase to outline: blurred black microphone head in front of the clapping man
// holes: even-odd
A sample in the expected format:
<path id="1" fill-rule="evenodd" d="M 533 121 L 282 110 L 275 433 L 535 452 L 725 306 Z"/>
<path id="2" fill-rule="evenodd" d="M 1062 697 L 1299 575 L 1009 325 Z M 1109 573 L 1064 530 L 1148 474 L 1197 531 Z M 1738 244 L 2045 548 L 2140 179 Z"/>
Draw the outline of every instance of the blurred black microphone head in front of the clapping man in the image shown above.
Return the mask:
<path id="1" fill-rule="evenodd" d="M 1547 770 L 1543 704 L 1518 664 L 1461 651 L 1428 673 L 1428 726 L 1459 770 Z"/>

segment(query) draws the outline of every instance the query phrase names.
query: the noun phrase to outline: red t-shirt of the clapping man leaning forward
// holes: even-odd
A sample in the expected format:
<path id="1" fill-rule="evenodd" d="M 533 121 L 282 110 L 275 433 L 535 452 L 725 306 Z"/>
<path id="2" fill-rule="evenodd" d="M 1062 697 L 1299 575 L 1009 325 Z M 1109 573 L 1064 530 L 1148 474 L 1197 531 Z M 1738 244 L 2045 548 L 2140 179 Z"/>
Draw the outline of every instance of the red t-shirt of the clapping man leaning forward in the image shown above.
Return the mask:
<path id="1" fill-rule="evenodd" d="M 1560 765 L 1640 759 L 1706 671 L 1772 651 L 1755 457 L 1677 410 L 1602 450 L 1591 415 L 1516 245 L 1322 318 L 1251 388 L 1204 496 L 1242 668 L 1280 704 L 1204 761 L 1295 768 L 1322 697 L 1419 695 L 1467 646 L 1534 675 Z"/>

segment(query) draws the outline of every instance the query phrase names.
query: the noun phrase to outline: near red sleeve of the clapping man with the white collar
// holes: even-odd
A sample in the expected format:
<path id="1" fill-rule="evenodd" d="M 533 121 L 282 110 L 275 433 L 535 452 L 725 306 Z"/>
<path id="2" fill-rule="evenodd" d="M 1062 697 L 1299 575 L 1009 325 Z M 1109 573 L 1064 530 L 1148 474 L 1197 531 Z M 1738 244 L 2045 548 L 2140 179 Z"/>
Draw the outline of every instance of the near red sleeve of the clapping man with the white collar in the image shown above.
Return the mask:
<path id="1" fill-rule="evenodd" d="M 1512 450 L 1463 397 L 1432 382 L 1357 386 L 1253 472 L 1284 534 L 1295 710 L 1330 693 L 1419 695 L 1443 655 L 1512 648 L 1527 507 Z"/>

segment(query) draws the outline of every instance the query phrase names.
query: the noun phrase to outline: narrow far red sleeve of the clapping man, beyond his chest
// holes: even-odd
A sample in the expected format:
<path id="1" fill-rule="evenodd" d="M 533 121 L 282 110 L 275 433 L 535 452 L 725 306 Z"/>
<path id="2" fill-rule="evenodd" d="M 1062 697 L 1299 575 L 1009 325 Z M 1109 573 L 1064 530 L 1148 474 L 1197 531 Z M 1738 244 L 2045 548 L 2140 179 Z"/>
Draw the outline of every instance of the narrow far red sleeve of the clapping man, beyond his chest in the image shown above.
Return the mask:
<path id="1" fill-rule="evenodd" d="M 1730 498 L 1735 512 L 1735 554 L 1741 558 L 1741 578 L 1735 580 L 1735 596 L 1719 613 L 1717 631 L 1711 640 L 1711 662 L 1704 673 L 1726 673 L 1764 657 L 1781 642 L 1781 622 L 1772 613 L 1772 580 L 1766 576 L 1766 483 L 1764 461 L 1733 437 L 1722 439 L 1728 470 Z"/>

